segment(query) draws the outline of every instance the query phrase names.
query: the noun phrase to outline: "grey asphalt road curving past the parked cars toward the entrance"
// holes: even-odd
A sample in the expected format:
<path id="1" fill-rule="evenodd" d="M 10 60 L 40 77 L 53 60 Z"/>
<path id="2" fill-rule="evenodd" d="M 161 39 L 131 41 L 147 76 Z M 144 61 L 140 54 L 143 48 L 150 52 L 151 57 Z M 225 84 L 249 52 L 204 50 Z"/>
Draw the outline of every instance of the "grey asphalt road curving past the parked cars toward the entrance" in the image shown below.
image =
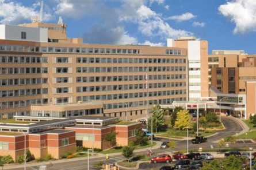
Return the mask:
<path id="1" fill-rule="evenodd" d="M 191 141 L 189 141 L 189 149 L 193 149 L 193 148 L 198 148 L 198 147 L 202 147 L 202 148 L 209 148 L 210 145 L 213 145 L 213 147 L 217 147 L 217 140 L 223 139 L 223 137 L 225 136 L 231 136 L 231 135 L 235 135 L 236 133 L 242 131 L 242 128 L 240 127 L 240 125 L 238 124 L 238 122 L 228 118 L 228 117 L 221 117 L 221 120 L 224 124 L 224 126 L 226 127 L 226 129 L 219 131 L 217 135 L 208 137 L 208 142 L 207 143 L 201 143 L 201 144 L 192 144 Z M 177 141 L 177 144 L 175 145 L 175 148 L 173 149 L 173 151 L 179 151 L 181 149 L 186 149 L 186 144 L 187 141 L 186 140 L 181 140 L 181 141 Z M 234 147 L 253 147 L 255 148 L 255 144 L 254 143 L 243 143 L 243 142 L 239 142 L 233 145 Z M 153 153 L 171 153 L 171 150 L 169 148 L 167 149 L 154 149 L 152 150 Z M 135 155 L 142 155 L 142 154 L 146 154 L 146 149 L 145 151 L 142 152 L 136 152 Z M 120 154 L 114 157 L 109 158 L 110 160 L 113 161 L 119 161 L 124 159 L 124 157 Z M 90 158 L 90 169 L 93 169 L 93 165 L 99 163 L 100 161 L 105 161 L 105 157 L 100 157 L 100 158 Z M 84 157 L 83 160 L 79 160 L 79 161 L 72 161 L 72 160 L 68 160 L 68 162 L 62 162 L 62 163 L 55 163 L 54 161 L 52 161 L 52 165 L 50 165 L 48 162 L 45 163 L 45 165 L 47 165 L 47 170 L 69 170 L 69 169 L 74 169 L 74 170 L 82 170 L 82 169 L 87 169 L 87 157 Z M 29 164 L 27 164 L 29 165 Z M 156 164 L 156 165 L 150 165 L 153 166 L 152 168 L 155 169 L 156 167 L 159 169 L 159 166 L 161 166 L 163 164 Z M 154 167 L 156 166 L 156 167 Z M 7 167 L 5 167 L 4 169 L 6 169 Z M 149 169 L 150 167 L 146 167 L 145 169 Z M 7 168 L 9 169 L 9 168 Z M 24 168 L 15 168 L 17 170 L 22 170 Z M 35 166 L 35 167 L 27 167 L 27 170 L 36 170 L 39 169 L 39 167 Z M 144 169 L 144 167 L 142 167 L 142 169 Z"/>

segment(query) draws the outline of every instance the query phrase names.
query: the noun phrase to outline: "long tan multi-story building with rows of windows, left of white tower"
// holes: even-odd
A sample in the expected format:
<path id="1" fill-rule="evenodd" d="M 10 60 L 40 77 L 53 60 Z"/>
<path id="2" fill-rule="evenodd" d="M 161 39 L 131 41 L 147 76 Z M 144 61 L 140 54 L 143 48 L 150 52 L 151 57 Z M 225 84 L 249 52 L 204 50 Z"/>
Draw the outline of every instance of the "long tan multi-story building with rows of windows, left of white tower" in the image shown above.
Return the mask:
<path id="1" fill-rule="evenodd" d="M 0 114 L 146 117 L 147 103 L 187 99 L 187 57 L 185 48 L 83 44 L 64 24 L 0 25 Z"/>

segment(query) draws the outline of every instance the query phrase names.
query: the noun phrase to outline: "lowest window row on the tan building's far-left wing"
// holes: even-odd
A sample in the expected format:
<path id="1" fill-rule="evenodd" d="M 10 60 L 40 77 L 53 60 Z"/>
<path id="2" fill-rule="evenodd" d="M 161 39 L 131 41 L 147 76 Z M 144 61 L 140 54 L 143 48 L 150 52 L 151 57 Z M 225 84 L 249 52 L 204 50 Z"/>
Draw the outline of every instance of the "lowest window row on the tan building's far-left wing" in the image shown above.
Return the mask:
<path id="1" fill-rule="evenodd" d="M 33 99 L 33 100 L 1 102 L 0 107 L 1 109 L 5 109 L 5 108 L 19 108 L 19 107 L 30 106 L 30 105 L 46 105 L 46 104 L 48 104 L 48 98 L 39 98 L 39 99 Z"/>

